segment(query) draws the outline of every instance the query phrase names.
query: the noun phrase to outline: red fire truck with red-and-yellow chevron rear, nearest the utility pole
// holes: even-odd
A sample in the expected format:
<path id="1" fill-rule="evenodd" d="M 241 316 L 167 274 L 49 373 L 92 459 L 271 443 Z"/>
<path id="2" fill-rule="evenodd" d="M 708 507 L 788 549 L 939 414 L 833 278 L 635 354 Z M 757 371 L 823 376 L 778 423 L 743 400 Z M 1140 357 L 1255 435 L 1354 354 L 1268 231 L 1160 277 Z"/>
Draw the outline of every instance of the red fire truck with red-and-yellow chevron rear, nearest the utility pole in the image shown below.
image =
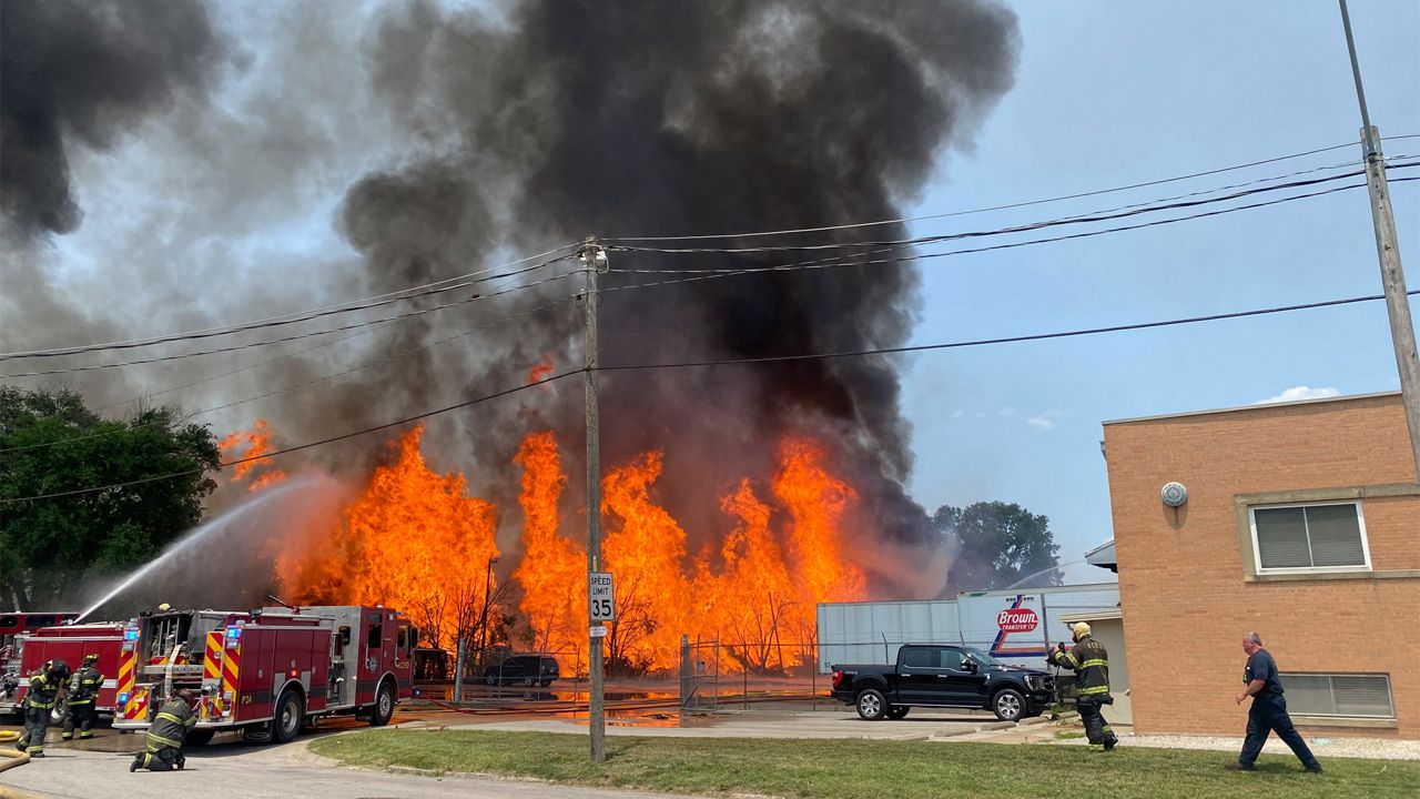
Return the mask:
<path id="1" fill-rule="evenodd" d="M 338 714 L 379 726 L 412 695 L 416 641 L 403 614 L 371 606 L 139 616 L 124 630 L 114 726 L 145 729 L 182 688 L 202 695 L 193 744 L 222 731 L 284 744 Z"/>

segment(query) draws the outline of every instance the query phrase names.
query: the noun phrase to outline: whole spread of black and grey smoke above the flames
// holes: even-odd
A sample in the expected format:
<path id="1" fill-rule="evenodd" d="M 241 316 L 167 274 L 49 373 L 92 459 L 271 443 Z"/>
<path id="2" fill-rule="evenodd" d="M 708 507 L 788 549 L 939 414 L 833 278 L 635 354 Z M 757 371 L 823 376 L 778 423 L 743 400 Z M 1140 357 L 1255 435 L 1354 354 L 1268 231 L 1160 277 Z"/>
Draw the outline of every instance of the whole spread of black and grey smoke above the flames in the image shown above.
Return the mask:
<path id="1" fill-rule="evenodd" d="M 947 156 L 970 145 L 983 115 L 1011 87 L 1018 48 L 1015 18 L 997 0 L 416 0 L 376 9 L 372 18 L 354 18 L 344 3 L 263 3 L 250 9 L 270 20 L 250 30 L 266 38 L 241 43 L 256 53 L 250 71 L 217 85 L 226 40 L 202 4 L 3 0 L 0 9 L 0 189 L 7 226 L 27 237 L 78 223 L 77 148 L 104 151 L 145 119 L 182 108 L 187 97 L 230 88 L 237 98 L 223 95 L 222 108 L 206 117 L 185 114 L 145 145 L 148 191 L 180 191 L 183 205 L 170 222 L 145 220 L 143 230 L 163 236 L 138 243 L 135 235 L 114 247 L 124 256 L 115 262 L 133 270 L 124 281 L 143 290 L 132 307 L 99 316 L 133 336 L 393 291 L 585 235 L 710 235 L 896 219 L 944 172 Z M 112 185 L 124 173 L 105 175 Z M 342 253 L 231 254 L 230 263 L 214 263 L 219 249 L 206 239 L 257 239 L 278 226 L 285 208 L 305 215 L 328 208 L 325 195 L 308 195 L 328 193 L 332 175 L 339 176 L 335 192 L 344 189 L 334 225 L 358 260 Z M 905 235 L 905 226 L 885 225 L 709 243 Z M 920 303 L 910 264 L 633 287 L 697 276 L 677 274 L 687 269 L 808 257 L 815 256 L 612 252 L 612 273 L 602 279 L 602 363 L 753 358 L 906 341 Z M 528 277 L 574 267 L 562 262 Z M 217 280 L 223 293 L 213 297 L 207 286 Z M 163 401 L 200 408 L 311 384 L 220 417 L 226 429 L 266 417 L 281 445 L 501 391 L 547 358 L 557 371 L 579 364 L 579 309 L 568 301 L 579 280 L 381 326 L 308 354 L 291 355 L 298 345 L 285 347 L 271 365 Z M 420 301 L 427 307 L 462 296 Z M 199 309 L 202 297 L 210 301 Z M 27 345 L 99 337 L 71 318 L 13 307 L 6 328 L 23 331 Z M 213 318 L 175 327 L 166 316 L 173 307 Z M 155 320 L 163 324 L 153 328 Z M 87 391 L 112 401 L 136 388 L 195 382 L 270 351 L 81 378 L 91 381 Z M 765 482 L 777 442 L 812 435 L 829 448 L 829 468 L 856 486 L 853 523 L 862 535 L 919 543 L 930 532 L 903 489 L 912 456 L 899 407 L 900 365 L 892 357 L 865 357 L 605 372 L 604 462 L 665 448 L 660 496 L 692 535 L 706 536 L 728 526 L 719 496 L 751 476 L 764 486 L 761 499 L 771 499 Z M 349 367 L 361 368 L 322 380 Z M 139 375 L 128 377 L 136 385 L 109 385 L 119 382 L 119 371 Z M 530 429 L 558 431 L 572 468 L 565 519 L 569 529 L 581 523 L 574 512 L 584 485 L 581 419 L 579 380 L 564 380 L 436 417 L 425 449 L 440 468 L 467 468 L 471 490 L 506 509 L 503 543 L 515 549 L 518 471 L 511 462 Z M 368 473 L 379 439 L 308 454 Z"/>

